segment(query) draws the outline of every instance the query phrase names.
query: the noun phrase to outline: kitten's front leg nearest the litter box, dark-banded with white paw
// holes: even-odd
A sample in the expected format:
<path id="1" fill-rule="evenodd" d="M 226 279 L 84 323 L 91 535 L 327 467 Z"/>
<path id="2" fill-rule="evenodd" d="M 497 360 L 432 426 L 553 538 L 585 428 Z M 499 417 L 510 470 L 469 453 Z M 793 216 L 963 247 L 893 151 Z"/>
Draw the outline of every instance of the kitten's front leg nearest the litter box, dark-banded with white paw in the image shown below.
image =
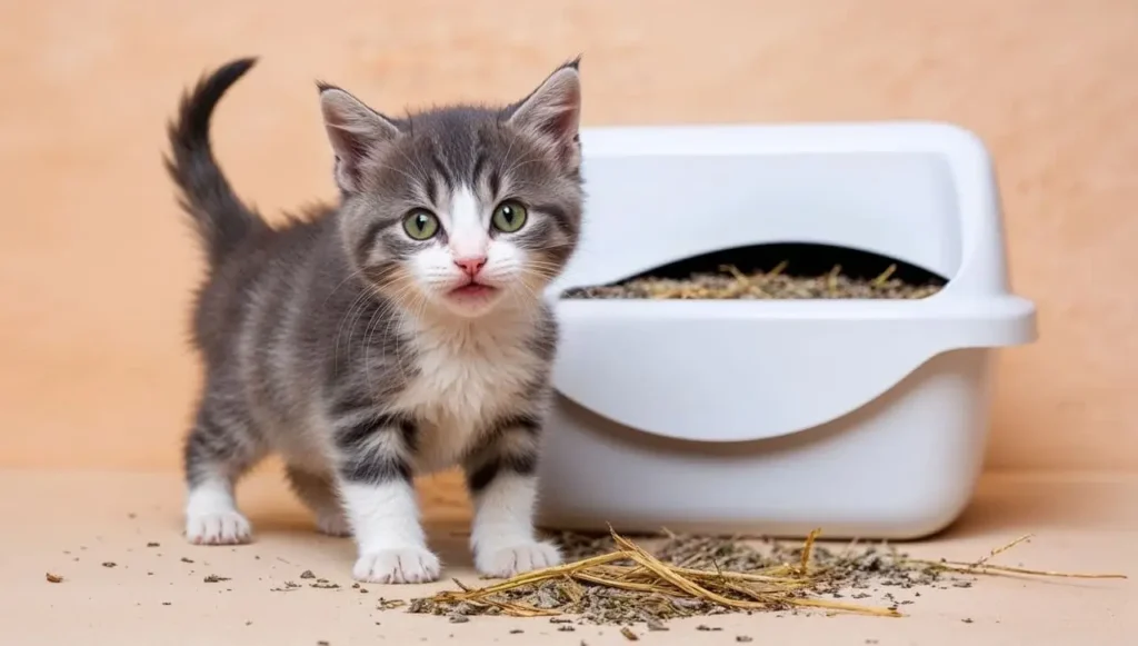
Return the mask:
<path id="1" fill-rule="evenodd" d="M 558 548 L 534 531 L 539 426 L 528 415 L 503 419 L 464 461 L 475 502 L 470 546 L 481 574 L 508 579 L 561 563 Z"/>

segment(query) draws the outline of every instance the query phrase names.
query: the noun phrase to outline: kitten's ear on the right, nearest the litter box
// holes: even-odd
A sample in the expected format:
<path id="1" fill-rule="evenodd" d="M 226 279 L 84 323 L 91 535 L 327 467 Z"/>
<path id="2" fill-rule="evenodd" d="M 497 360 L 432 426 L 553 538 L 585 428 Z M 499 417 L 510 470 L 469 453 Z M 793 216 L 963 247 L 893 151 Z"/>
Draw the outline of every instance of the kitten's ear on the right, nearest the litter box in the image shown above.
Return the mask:
<path id="1" fill-rule="evenodd" d="M 579 162 L 580 57 L 553 71 L 539 88 L 513 107 L 509 123 L 544 139 L 562 161 Z"/>

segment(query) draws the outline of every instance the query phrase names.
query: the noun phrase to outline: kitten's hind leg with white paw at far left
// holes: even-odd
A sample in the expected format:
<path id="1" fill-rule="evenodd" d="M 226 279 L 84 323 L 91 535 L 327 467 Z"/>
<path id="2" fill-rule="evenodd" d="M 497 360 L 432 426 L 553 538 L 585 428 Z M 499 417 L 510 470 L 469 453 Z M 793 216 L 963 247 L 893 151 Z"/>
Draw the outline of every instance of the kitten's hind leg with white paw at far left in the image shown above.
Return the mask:
<path id="1" fill-rule="evenodd" d="M 233 485 L 264 453 L 248 424 L 236 417 L 207 400 L 185 440 L 185 538 L 192 543 L 238 545 L 253 538 Z"/>

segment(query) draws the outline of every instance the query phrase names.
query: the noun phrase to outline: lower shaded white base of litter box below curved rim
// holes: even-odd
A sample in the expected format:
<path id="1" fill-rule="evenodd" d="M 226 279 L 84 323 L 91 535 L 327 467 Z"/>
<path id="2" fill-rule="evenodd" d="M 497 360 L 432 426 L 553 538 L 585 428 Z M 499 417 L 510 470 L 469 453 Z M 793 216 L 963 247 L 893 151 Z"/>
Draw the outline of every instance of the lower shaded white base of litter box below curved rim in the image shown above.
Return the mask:
<path id="1" fill-rule="evenodd" d="M 988 436 L 990 350 L 940 354 L 858 410 L 737 443 L 661 438 L 559 398 L 538 517 L 558 529 L 914 539 L 972 496 Z"/>

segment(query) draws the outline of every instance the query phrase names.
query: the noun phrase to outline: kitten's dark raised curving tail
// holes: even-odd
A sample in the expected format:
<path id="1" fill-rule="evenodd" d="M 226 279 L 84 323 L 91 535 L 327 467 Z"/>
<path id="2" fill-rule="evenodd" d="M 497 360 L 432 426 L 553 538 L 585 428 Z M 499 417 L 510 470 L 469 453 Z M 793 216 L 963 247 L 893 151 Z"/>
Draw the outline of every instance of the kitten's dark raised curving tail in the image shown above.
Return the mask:
<path id="1" fill-rule="evenodd" d="M 250 234 L 269 228 L 233 193 L 209 145 L 214 107 L 255 63 L 256 58 L 233 60 L 203 76 L 182 95 L 178 117 L 167 128 L 173 158 L 164 158 L 166 170 L 181 191 L 179 205 L 190 215 L 211 265 L 216 265 Z"/>

